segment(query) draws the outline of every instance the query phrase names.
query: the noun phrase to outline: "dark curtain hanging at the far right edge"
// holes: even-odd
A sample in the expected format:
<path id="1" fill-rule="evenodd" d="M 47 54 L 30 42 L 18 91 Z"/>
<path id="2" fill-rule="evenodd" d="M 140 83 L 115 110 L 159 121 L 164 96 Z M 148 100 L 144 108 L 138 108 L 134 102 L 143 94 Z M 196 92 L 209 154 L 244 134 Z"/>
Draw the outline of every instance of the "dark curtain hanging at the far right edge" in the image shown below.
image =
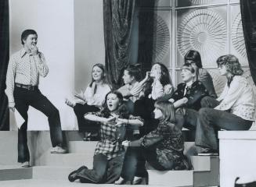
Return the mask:
<path id="1" fill-rule="evenodd" d="M 240 0 L 240 8 L 251 77 L 256 83 L 256 0 Z"/>

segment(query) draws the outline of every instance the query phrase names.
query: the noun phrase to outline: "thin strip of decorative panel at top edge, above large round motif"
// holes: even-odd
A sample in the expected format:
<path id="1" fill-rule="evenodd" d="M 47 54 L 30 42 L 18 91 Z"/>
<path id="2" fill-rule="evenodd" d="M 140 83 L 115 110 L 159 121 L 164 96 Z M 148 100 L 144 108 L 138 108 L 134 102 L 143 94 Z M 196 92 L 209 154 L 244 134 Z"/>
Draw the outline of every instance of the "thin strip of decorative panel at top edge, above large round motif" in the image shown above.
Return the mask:
<path id="1" fill-rule="evenodd" d="M 193 5 L 215 5 L 227 3 L 228 0 L 177 0 L 176 6 L 193 6 Z"/>

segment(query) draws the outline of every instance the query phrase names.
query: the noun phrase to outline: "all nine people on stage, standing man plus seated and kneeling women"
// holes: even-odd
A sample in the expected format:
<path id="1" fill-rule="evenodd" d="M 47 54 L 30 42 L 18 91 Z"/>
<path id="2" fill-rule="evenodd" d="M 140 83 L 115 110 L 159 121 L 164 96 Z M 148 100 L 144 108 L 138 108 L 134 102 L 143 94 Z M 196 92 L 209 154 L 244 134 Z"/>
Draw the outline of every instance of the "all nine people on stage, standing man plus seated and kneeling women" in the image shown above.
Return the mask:
<path id="1" fill-rule="evenodd" d="M 38 34 L 25 30 L 23 48 L 9 61 L 5 93 L 9 108 L 20 112 L 25 122 L 18 132 L 18 161 L 29 166 L 27 110 L 32 106 L 49 117 L 52 153 L 66 153 L 59 111 L 38 90 L 39 76 L 46 76 L 44 55 L 36 47 Z M 155 63 L 141 79 L 136 65 L 123 72 L 124 86 L 113 90 L 102 64 L 92 67 L 92 81 L 85 93 L 75 93 L 74 108 L 85 140 L 99 140 L 93 168 L 81 166 L 68 176 L 70 182 L 141 184 L 147 183 L 146 161 L 153 168 L 189 170 L 183 154 L 182 128 L 195 131 L 199 154 L 218 153 L 218 130 L 247 130 L 254 122 L 254 94 L 234 55 L 217 59 L 218 70 L 227 83 L 217 98 L 200 53 L 190 50 L 181 68 L 182 83 L 175 88 L 168 68 Z"/>

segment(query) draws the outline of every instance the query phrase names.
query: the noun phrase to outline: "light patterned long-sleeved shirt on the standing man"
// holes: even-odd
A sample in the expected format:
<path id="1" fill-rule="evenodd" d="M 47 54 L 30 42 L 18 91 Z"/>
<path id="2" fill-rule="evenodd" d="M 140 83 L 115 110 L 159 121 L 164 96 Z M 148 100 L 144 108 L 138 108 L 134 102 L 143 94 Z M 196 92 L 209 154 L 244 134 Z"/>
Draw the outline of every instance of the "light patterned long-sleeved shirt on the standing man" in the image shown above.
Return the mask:
<path id="1" fill-rule="evenodd" d="M 6 75 L 5 94 L 9 103 L 14 103 L 13 90 L 15 83 L 38 86 L 39 76 L 45 77 L 48 72 L 45 56 L 41 52 L 38 52 L 38 55 L 31 55 L 22 48 L 14 53 L 9 59 Z"/>

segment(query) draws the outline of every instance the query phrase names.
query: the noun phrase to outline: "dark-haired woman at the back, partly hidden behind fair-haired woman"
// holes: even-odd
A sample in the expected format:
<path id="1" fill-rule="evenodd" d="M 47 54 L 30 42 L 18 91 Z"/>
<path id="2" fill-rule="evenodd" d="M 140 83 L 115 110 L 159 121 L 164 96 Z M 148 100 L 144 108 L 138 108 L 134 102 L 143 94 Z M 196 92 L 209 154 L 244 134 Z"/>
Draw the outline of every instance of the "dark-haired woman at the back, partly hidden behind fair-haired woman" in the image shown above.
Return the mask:
<path id="1" fill-rule="evenodd" d="M 211 75 L 209 72 L 207 72 L 206 69 L 203 68 L 200 53 L 195 50 L 189 50 L 186 53 L 184 59 L 185 63 L 191 63 L 192 65 L 195 65 L 197 67 L 198 80 L 200 80 L 200 82 L 204 84 L 209 93 L 209 96 L 217 98 L 217 94 L 215 93 L 215 86 L 213 84 Z"/>

